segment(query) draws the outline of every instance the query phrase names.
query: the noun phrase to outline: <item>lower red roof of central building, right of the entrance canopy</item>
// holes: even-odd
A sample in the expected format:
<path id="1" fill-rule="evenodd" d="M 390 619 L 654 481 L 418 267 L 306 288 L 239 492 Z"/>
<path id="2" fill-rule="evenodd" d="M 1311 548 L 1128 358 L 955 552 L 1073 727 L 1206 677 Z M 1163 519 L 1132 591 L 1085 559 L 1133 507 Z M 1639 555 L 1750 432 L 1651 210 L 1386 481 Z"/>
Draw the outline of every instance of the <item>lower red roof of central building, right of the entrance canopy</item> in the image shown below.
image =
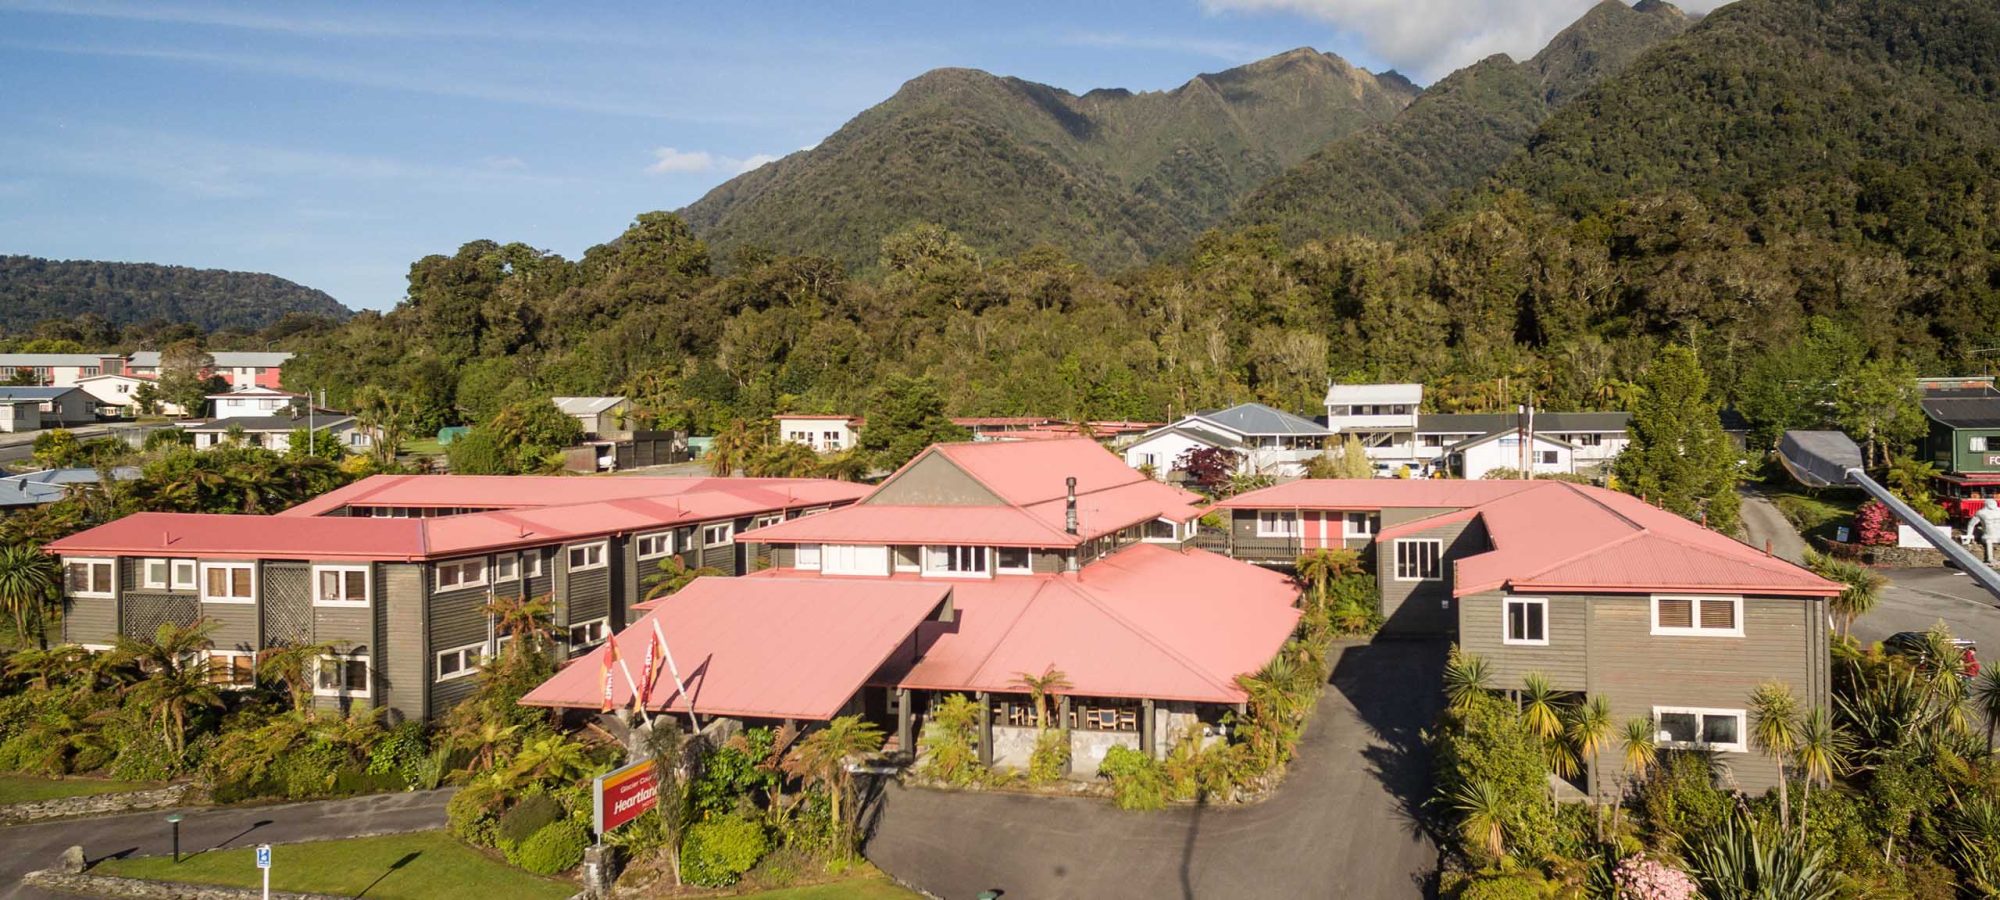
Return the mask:
<path id="1" fill-rule="evenodd" d="M 914 574 L 818 580 L 936 584 Z M 922 656 L 892 660 L 874 682 L 1020 692 L 1022 672 L 1054 666 L 1072 684 L 1066 694 L 1234 704 L 1244 700 L 1236 676 L 1264 668 L 1298 626 L 1296 600 L 1276 572 L 1136 544 L 1080 574 L 958 582 L 956 622 L 920 626 Z"/>

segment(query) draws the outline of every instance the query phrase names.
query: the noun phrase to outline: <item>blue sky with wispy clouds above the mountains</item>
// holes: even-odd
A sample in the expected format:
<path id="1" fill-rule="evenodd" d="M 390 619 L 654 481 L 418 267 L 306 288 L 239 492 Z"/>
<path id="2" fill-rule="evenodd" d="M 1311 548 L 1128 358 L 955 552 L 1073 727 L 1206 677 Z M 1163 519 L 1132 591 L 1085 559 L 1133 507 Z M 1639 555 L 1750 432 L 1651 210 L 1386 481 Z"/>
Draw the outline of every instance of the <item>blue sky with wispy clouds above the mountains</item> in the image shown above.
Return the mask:
<path id="1" fill-rule="evenodd" d="M 0 254 L 388 308 L 424 254 L 580 256 L 928 68 L 1164 90 L 1316 46 L 1428 82 L 1532 54 L 1588 2 L 0 0 Z"/>

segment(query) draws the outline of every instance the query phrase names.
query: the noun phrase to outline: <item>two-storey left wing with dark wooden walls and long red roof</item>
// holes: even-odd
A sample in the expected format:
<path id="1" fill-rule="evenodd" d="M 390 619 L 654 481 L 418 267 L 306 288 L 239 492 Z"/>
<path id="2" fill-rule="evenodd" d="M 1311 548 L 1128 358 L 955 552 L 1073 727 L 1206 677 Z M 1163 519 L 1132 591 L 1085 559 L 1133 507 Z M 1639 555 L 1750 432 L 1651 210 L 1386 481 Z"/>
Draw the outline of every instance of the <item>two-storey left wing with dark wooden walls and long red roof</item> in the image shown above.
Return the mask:
<path id="1" fill-rule="evenodd" d="M 254 654 L 338 644 L 324 706 L 434 718 L 498 650 L 488 600 L 548 596 L 564 654 L 630 622 L 660 562 L 742 574 L 736 532 L 854 502 L 786 478 L 374 476 L 274 516 L 140 512 L 46 546 L 64 568 L 64 640 L 106 648 L 162 622 L 216 626 L 210 678 Z M 768 554 L 764 556 L 768 560 Z"/>

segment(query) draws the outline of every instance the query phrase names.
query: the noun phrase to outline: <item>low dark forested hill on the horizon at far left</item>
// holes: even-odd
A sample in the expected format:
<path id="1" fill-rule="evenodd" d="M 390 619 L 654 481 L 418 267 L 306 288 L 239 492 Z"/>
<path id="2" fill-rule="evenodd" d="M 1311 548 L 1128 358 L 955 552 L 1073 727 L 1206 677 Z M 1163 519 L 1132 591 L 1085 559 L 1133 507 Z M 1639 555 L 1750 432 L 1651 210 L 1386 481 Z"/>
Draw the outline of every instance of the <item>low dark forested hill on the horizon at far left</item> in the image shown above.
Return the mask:
<path id="1" fill-rule="evenodd" d="M 164 320 L 202 330 L 254 332 L 288 312 L 334 318 L 352 314 L 326 292 L 262 272 L 0 256 L 4 332 L 82 314 L 102 316 L 112 326 Z"/>

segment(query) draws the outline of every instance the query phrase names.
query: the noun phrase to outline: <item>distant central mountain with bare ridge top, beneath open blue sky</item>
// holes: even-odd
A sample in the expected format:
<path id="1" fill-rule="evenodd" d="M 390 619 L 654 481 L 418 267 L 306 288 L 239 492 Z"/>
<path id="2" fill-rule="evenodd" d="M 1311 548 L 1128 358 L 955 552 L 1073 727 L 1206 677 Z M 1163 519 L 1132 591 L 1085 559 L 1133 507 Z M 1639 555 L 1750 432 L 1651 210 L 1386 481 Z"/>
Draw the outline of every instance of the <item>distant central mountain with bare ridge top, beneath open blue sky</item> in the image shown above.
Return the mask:
<path id="1" fill-rule="evenodd" d="M 980 252 L 1052 244 L 1124 268 L 1186 246 L 1250 188 L 1412 96 L 1402 76 L 1314 50 L 1146 94 L 946 68 L 682 216 L 718 254 L 760 246 L 864 268 L 890 232 L 938 222 Z"/>

